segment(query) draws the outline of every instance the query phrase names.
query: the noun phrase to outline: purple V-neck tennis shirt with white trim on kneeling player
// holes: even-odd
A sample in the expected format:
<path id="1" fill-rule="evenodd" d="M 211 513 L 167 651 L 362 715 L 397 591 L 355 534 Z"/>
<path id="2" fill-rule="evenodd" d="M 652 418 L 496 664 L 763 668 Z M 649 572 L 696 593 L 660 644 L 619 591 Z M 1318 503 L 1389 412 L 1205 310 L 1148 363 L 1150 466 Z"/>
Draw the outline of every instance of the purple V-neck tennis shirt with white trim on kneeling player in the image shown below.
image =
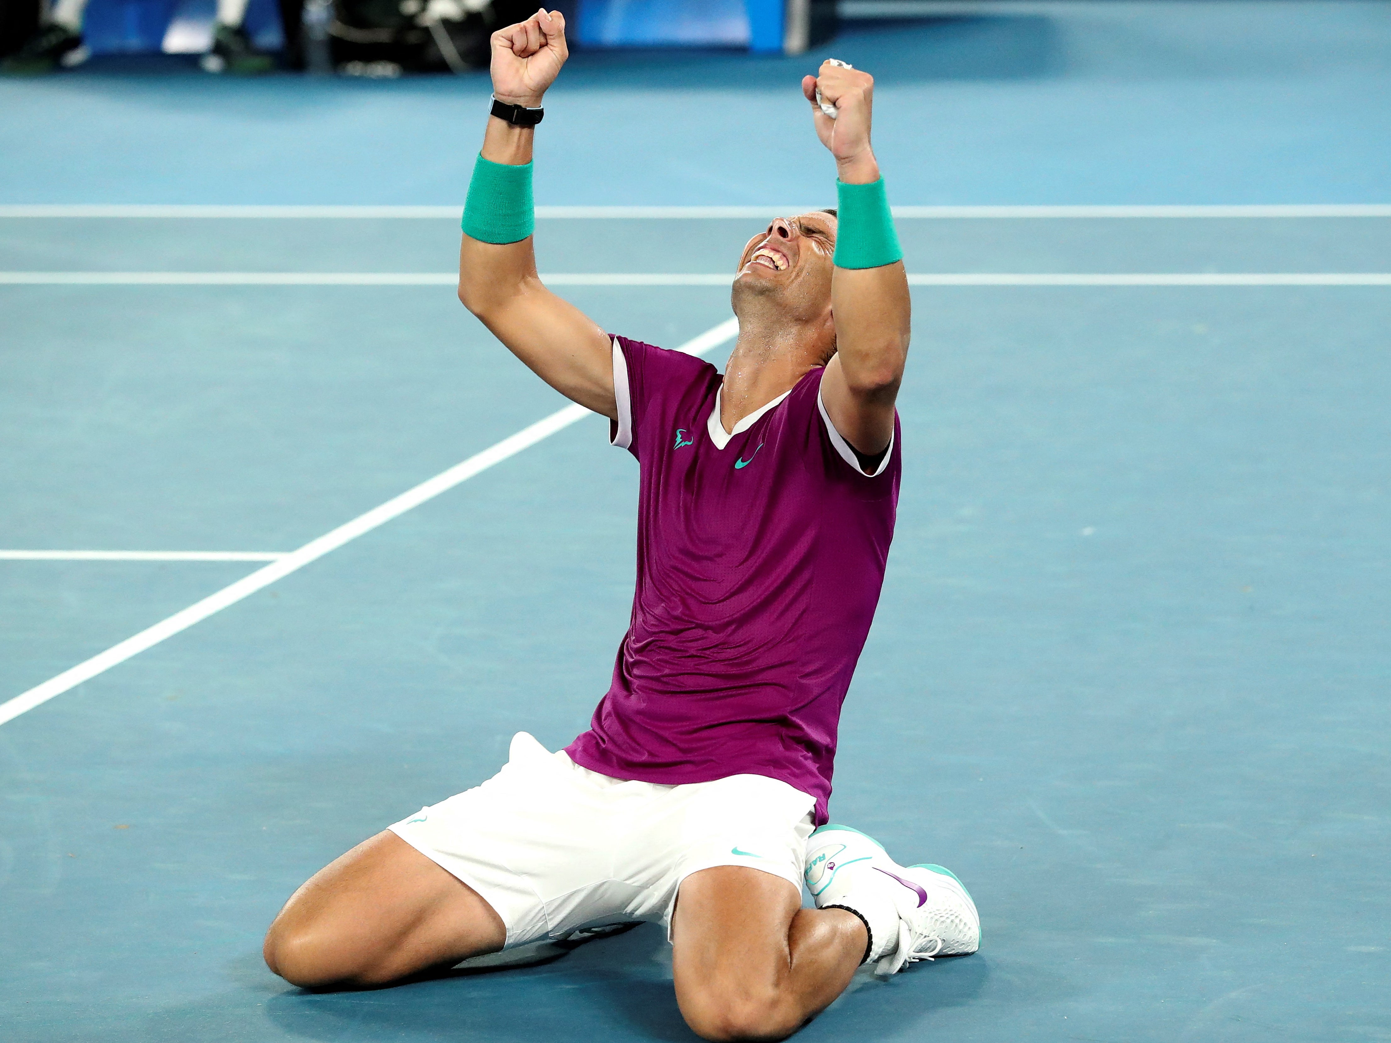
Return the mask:
<path id="1" fill-rule="evenodd" d="M 826 820 L 840 705 L 893 538 L 899 423 L 875 474 L 830 424 L 814 369 L 739 421 L 707 362 L 613 338 L 638 462 L 637 590 L 613 683 L 566 752 L 618 779 L 764 775 Z"/>

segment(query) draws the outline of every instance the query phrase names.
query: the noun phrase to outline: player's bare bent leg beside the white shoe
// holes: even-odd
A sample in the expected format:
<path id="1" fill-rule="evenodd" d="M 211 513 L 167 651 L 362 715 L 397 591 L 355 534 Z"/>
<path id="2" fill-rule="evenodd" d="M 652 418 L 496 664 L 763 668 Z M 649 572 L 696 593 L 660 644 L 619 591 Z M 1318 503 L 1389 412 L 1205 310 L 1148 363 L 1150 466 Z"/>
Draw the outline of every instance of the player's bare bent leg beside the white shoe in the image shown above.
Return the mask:
<path id="1" fill-rule="evenodd" d="M 780 876 L 702 869 L 672 918 L 676 1003 L 709 1040 L 786 1039 L 844 992 L 867 940 L 858 916 L 801 908 Z"/>

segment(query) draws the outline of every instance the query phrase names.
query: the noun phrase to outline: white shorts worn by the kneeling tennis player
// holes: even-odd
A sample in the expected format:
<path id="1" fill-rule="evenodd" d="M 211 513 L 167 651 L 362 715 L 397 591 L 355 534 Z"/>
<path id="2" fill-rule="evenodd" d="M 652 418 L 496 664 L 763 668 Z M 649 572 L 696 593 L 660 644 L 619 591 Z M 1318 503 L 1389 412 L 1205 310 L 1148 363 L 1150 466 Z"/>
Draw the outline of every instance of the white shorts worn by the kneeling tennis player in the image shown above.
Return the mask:
<path id="1" fill-rule="evenodd" d="M 391 832 L 481 894 L 512 948 L 622 921 L 670 932 L 682 880 L 716 865 L 761 869 L 800 891 L 814 805 L 761 775 L 611 779 L 519 731 L 501 772 Z"/>

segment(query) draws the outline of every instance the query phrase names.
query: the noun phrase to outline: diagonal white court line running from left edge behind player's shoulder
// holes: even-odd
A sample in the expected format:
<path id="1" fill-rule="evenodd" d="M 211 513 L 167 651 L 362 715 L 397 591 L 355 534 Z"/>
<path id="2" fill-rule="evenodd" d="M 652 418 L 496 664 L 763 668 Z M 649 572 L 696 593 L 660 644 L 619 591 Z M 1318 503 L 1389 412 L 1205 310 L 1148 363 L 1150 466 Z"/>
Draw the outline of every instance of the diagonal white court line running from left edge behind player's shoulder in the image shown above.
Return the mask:
<path id="1" fill-rule="evenodd" d="M 689 355 L 704 355 L 705 352 L 714 350 L 719 345 L 725 343 L 737 332 L 739 320 L 726 318 L 719 325 L 712 327 L 700 337 L 680 345 L 676 350 L 686 352 Z M 250 576 L 245 576 L 236 583 L 223 587 L 216 594 L 189 605 L 186 609 L 175 612 L 168 619 L 163 619 L 134 637 L 128 637 L 120 644 L 111 645 L 104 652 L 93 655 L 86 662 L 81 662 L 77 666 L 64 670 L 57 677 L 50 677 L 43 681 L 43 684 L 38 684 L 28 691 L 15 695 L 7 702 L 0 702 L 0 725 L 14 720 L 21 713 L 47 702 L 54 695 L 61 695 L 82 681 L 96 677 L 99 673 L 110 670 L 113 666 L 124 663 L 127 659 L 134 655 L 139 655 L 146 648 L 152 648 L 160 641 L 188 630 L 195 623 L 221 612 L 230 605 L 235 605 L 242 598 L 255 594 L 263 587 L 268 587 L 282 576 L 289 576 L 289 573 L 303 569 L 310 562 L 323 558 L 331 551 L 337 551 L 339 547 L 356 540 L 359 535 L 370 533 L 373 528 L 385 524 L 394 517 L 399 517 L 412 508 L 417 508 L 426 501 L 438 496 L 441 492 L 452 490 L 459 483 L 467 481 L 473 476 L 488 470 L 488 467 L 502 463 L 510 456 L 516 456 L 523 449 L 536 445 L 541 439 L 551 437 L 556 431 L 565 430 L 574 421 L 587 416 L 593 416 L 593 413 L 590 413 L 590 410 L 584 406 L 569 405 L 565 409 L 551 413 L 551 416 L 542 420 L 537 420 L 530 427 L 523 427 L 516 434 L 508 435 L 501 442 L 488 446 L 480 453 L 474 453 L 462 463 L 456 463 L 449 470 L 441 471 L 433 478 L 420 483 L 415 488 L 406 490 L 399 496 L 388 499 L 385 503 L 373 508 L 366 515 L 359 515 L 352 522 L 338 526 L 338 528 L 334 528 L 330 533 L 324 533 L 317 540 L 310 540 L 298 551 L 291 551 L 284 558 L 257 569 Z"/>

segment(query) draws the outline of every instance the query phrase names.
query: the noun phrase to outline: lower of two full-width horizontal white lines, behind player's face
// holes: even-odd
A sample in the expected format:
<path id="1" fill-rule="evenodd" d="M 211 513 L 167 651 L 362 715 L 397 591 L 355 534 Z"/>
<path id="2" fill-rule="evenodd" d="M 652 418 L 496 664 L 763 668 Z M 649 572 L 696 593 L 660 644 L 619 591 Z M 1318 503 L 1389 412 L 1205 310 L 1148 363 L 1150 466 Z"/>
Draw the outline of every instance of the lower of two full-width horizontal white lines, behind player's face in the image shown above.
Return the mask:
<path id="1" fill-rule="evenodd" d="M 548 286 L 727 286 L 732 273 L 549 273 Z M 444 286 L 452 271 L 0 271 L 22 286 Z M 910 286 L 1391 286 L 1387 271 L 910 273 Z"/>

